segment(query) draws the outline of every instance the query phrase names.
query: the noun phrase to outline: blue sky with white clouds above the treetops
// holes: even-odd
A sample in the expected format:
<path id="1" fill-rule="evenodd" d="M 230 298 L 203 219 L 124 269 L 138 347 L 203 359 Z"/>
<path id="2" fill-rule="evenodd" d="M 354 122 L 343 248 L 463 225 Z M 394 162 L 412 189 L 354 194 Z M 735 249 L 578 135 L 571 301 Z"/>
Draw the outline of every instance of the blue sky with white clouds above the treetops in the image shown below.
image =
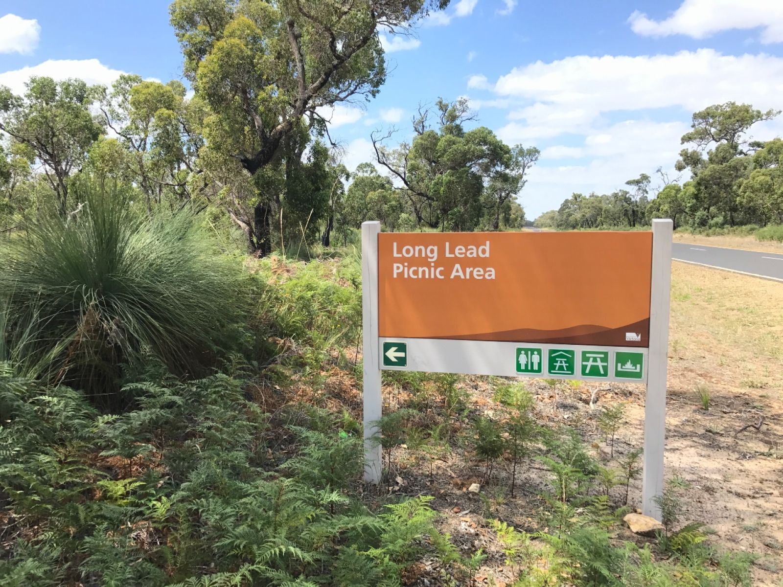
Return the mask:
<path id="1" fill-rule="evenodd" d="M 529 218 L 572 192 L 671 171 L 704 106 L 783 108 L 781 0 L 453 0 L 387 41 L 378 98 L 332 113 L 348 167 L 370 160 L 374 128 L 408 139 L 419 103 L 467 96 L 477 124 L 542 150 L 519 196 Z M 0 2 L 0 84 L 20 91 L 31 74 L 110 84 L 121 72 L 181 76 L 166 0 Z M 781 121 L 752 131 L 781 134 Z"/>

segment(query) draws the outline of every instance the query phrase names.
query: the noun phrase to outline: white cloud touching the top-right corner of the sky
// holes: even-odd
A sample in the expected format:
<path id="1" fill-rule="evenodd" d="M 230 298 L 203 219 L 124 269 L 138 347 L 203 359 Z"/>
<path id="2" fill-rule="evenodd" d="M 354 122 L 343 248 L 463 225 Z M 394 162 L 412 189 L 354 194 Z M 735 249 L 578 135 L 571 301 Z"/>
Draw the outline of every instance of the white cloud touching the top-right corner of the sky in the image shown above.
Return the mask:
<path id="1" fill-rule="evenodd" d="M 666 20 L 653 20 L 638 10 L 628 22 L 646 37 L 686 34 L 706 38 L 721 31 L 761 27 L 761 42 L 783 41 L 781 0 L 684 0 Z"/>

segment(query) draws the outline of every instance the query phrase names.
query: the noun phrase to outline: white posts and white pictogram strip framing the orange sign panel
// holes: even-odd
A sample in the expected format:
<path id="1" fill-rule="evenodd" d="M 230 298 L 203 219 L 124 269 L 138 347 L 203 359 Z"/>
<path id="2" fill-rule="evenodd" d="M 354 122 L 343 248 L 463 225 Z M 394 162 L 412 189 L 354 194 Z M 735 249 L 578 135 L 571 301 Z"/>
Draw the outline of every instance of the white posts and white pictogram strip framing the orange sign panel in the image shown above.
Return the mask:
<path id="1" fill-rule="evenodd" d="M 644 403 L 642 511 L 645 515 L 658 518 L 660 510 L 655 504 L 655 496 L 661 495 L 663 491 L 672 229 L 671 220 L 652 221 L 652 258 L 651 265 L 648 265 L 651 266 L 649 340 L 648 347 L 645 348 L 644 342 L 637 342 L 637 344 L 633 342 L 641 340 L 640 337 L 643 335 L 640 333 L 625 333 L 625 340 L 631 341 L 627 346 L 608 346 L 589 342 L 558 344 L 508 338 L 464 340 L 464 338 L 381 337 L 378 315 L 380 271 L 378 240 L 381 223 L 364 222 L 362 225 L 362 301 L 365 481 L 370 483 L 381 481 L 381 445 L 377 438 L 377 425 L 374 424 L 381 419 L 381 369 L 644 383 L 647 385 L 647 394 Z M 547 233 L 542 233 L 541 236 L 548 237 Z M 647 251 L 649 254 L 649 249 Z M 489 241 L 486 254 L 489 256 Z M 647 257 L 647 262 L 650 262 L 650 257 Z M 430 275 L 442 279 L 437 271 L 435 265 L 432 265 Z M 607 275 L 606 283 L 614 284 L 618 277 L 621 279 L 617 283 L 622 283 L 624 275 L 617 275 L 622 271 L 620 268 L 617 272 Z M 458 285 L 455 284 L 454 287 L 456 286 Z M 532 283 L 531 286 L 536 285 Z M 559 283 L 557 286 L 559 287 Z M 571 283 L 562 284 L 564 288 L 570 286 Z M 646 310 L 646 290 L 644 292 Z M 466 311 L 469 312 L 469 309 Z M 422 318 L 424 319 L 424 316 Z M 616 339 L 612 340 L 616 342 Z M 616 342 L 616 344 L 620 343 Z"/>

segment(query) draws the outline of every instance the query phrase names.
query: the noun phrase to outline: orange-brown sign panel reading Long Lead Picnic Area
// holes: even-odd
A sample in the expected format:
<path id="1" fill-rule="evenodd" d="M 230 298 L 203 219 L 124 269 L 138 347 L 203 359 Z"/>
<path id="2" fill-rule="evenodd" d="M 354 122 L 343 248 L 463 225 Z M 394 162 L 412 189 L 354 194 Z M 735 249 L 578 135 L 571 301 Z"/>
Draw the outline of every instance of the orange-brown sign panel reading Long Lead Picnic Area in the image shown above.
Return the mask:
<path id="1" fill-rule="evenodd" d="M 381 233 L 379 336 L 648 347 L 651 232 Z"/>

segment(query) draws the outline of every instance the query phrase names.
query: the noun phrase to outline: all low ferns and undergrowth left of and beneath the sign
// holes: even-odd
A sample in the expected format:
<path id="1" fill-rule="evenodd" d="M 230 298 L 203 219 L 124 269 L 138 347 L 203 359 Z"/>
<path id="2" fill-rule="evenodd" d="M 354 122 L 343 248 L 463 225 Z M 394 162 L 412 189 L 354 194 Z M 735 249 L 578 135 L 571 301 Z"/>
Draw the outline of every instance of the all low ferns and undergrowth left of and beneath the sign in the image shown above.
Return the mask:
<path id="1" fill-rule="evenodd" d="M 358 373 L 355 261 L 346 250 L 309 263 L 229 263 L 260 300 L 241 317 L 244 336 L 196 379 L 172 373 L 151 345 L 129 347 L 120 394 L 132 402 L 106 404 L 91 381 L 0 363 L 0 582 L 400 585 L 426 558 L 444 581 L 471 585 L 488 553 L 457 549 L 438 530 L 431 498 L 363 492 L 362 432 L 350 414 L 328 409 L 327 393 L 315 404 L 280 396 L 298 380 L 318 397 L 324 369 Z M 492 463 L 507 458 L 511 487 L 539 500 L 547 531 L 487 522 L 514 585 L 749 585 L 752 559 L 720 555 L 701 527 L 680 529 L 676 511 L 659 546 L 611 538 L 639 451 L 599 463 L 575 430 L 536 423 L 519 385 L 496 382 L 500 409 L 489 418 L 467 408 L 455 376 L 394 373 L 388 383 L 418 405 L 381 423 L 392 477 L 400 450 L 424 459 L 430 475 L 464 451 L 497 488 L 492 499 L 505 499 Z M 549 471 L 543 488 L 520 481 L 536 460 Z"/>

